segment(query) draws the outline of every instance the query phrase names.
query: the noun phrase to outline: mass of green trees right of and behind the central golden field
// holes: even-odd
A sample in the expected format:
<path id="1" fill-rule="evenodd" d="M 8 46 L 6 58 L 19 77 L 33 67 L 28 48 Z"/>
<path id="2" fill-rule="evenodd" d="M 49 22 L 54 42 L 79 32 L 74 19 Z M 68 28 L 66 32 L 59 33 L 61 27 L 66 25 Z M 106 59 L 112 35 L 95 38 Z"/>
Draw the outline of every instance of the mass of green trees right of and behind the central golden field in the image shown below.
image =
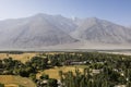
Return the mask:
<path id="1" fill-rule="evenodd" d="M 46 55 L 46 54 L 45 54 Z M 131 57 L 98 52 L 67 52 L 47 55 L 55 60 L 53 65 L 66 65 L 66 61 L 86 61 L 84 74 L 76 71 L 60 73 L 63 87 L 114 87 L 116 85 L 131 86 Z M 93 74 L 91 70 L 100 70 Z"/>

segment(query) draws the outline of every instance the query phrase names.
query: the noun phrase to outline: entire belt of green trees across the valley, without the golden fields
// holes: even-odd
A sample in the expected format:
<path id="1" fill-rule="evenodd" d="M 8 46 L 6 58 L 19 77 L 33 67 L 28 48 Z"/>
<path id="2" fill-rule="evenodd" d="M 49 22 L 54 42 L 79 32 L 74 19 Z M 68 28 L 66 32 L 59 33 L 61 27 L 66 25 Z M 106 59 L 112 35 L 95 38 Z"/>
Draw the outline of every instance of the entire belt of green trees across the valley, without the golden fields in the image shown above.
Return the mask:
<path id="1" fill-rule="evenodd" d="M 69 60 L 86 61 L 83 64 L 87 67 L 84 69 L 83 73 L 79 70 L 75 71 L 75 74 L 73 72 L 59 72 L 62 87 L 131 86 L 131 57 L 122 54 L 98 52 L 43 53 L 39 57 L 33 57 L 25 63 L 9 58 L 0 60 L 0 74 L 31 77 L 38 87 L 57 87 L 57 79 L 51 79 L 45 75 L 36 79 L 36 73 L 49 67 L 67 65 L 66 62 Z M 99 70 L 100 73 L 93 74 L 92 70 Z M 48 80 L 46 85 L 43 83 L 45 79 Z"/>

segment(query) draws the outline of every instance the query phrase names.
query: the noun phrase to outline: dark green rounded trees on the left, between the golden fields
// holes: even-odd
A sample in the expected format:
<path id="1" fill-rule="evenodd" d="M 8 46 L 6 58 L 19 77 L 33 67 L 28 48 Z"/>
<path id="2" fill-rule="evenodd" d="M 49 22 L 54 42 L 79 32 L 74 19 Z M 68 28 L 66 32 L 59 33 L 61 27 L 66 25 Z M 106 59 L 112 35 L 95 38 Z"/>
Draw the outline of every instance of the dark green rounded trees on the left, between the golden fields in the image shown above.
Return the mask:
<path id="1" fill-rule="evenodd" d="M 12 58 L 0 60 L 0 75 L 20 75 L 29 77 L 36 83 L 37 87 L 58 87 L 57 79 L 49 78 L 48 75 L 41 75 L 39 79 L 36 78 L 36 73 L 38 73 L 38 71 L 44 71 L 49 67 L 48 59 L 41 57 L 33 57 L 25 63 L 13 60 Z M 48 82 L 44 84 L 44 80 Z M 4 85 L 0 84 L 0 87 L 4 87 Z"/>

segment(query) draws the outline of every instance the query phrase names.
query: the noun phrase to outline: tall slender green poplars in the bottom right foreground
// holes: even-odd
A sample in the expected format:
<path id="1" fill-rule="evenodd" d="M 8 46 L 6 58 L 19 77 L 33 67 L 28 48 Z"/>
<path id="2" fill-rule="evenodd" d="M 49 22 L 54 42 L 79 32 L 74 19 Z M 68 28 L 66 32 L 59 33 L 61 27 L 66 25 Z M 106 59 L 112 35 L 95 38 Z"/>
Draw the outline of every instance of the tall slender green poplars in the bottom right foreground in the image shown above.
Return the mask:
<path id="1" fill-rule="evenodd" d="M 115 87 L 116 85 L 131 86 L 130 76 L 121 75 L 119 72 L 114 71 L 110 67 L 104 67 L 99 74 L 93 74 L 91 69 L 85 69 L 82 72 L 75 70 L 75 73 L 60 72 L 61 87 Z M 131 72 L 129 72 L 131 75 Z M 127 79 L 128 78 L 128 79 Z"/>

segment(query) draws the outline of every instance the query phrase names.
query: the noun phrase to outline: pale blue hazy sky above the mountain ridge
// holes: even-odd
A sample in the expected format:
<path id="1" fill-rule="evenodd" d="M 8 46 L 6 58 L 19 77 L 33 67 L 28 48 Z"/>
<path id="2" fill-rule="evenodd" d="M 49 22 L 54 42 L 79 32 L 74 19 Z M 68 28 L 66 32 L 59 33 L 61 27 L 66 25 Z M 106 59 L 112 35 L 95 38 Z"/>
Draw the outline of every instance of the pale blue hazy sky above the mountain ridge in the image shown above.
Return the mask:
<path id="1" fill-rule="evenodd" d="M 0 0 L 0 20 L 37 13 L 98 17 L 131 25 L 131 0 Z"/>

